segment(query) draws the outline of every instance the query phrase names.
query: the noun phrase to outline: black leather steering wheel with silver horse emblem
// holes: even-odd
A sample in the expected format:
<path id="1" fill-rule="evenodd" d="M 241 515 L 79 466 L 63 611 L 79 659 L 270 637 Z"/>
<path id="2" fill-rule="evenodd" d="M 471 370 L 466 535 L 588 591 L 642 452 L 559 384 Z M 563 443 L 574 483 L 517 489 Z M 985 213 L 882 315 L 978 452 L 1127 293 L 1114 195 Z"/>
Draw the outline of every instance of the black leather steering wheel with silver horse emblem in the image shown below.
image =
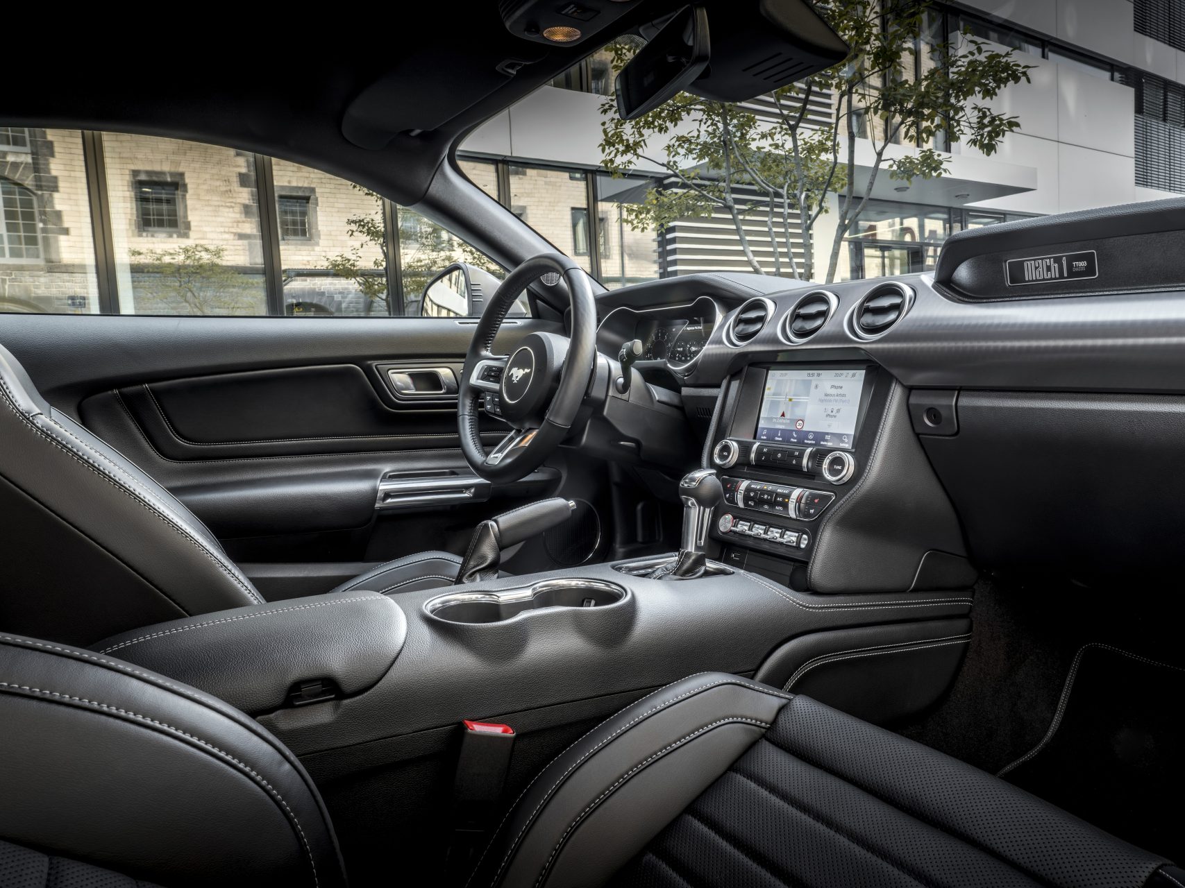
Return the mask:
<path id="1" fill-rule="evenodd" d="M 511 355 L 493 353 L 506 313 L 524 289 L 546 274 L 568 283 L 572 335 L 530 333 Z M 568 437 L 596 367 L 596 301 L 589 277 L 559 253 L 526 259 L 486 303 L 465 356 L 459 392 L 461 452 L 478 475 L 506 483 L 525 477 Z M 478 430 L 486 397 L 497 399 L 512 431 L 486 453 Z"/>

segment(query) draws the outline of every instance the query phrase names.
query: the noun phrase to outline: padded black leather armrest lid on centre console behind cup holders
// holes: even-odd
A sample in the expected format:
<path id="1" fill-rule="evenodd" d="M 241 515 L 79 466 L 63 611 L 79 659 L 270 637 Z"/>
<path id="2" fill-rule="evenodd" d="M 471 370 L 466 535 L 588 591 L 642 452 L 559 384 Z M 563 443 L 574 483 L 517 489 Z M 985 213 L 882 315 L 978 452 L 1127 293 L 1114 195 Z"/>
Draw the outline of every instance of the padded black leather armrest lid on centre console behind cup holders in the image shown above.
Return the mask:
<path id="1" fill-rule="evenodd" d="M 359 591 L 158 623 L 92 648 L 262 713 L 306 681 L 360 694 L 399 656 L 406 626 L 391 598 Z"/>

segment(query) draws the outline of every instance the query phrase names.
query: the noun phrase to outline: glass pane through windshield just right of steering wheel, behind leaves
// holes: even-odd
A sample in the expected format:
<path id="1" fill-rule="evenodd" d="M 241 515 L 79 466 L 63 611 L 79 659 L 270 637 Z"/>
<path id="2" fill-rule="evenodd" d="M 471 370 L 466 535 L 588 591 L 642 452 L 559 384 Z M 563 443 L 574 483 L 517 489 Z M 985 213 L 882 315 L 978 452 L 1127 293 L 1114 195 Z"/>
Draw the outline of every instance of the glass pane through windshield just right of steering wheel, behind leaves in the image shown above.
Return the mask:
<path id="1" fill-rule="evenodd" d="M 654 180 L 643 176 L 596 176 L 601 283 L 610 289 L 660 276 L 658 232 L 653 226 L 636 230 L 629 223 L 629 207 L 642 204 L 653 187 Z"/>

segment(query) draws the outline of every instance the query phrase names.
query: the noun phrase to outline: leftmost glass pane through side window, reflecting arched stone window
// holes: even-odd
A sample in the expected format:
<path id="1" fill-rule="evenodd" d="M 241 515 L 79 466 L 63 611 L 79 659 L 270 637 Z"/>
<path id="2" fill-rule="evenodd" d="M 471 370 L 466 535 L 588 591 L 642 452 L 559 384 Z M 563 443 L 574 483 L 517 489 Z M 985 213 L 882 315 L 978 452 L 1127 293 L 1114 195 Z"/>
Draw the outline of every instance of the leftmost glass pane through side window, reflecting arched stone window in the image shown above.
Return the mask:
<path id="1" fill-rule="evenodd" d="M 0 127 L 0 311 L 98 310 L 82 134 Z"/>

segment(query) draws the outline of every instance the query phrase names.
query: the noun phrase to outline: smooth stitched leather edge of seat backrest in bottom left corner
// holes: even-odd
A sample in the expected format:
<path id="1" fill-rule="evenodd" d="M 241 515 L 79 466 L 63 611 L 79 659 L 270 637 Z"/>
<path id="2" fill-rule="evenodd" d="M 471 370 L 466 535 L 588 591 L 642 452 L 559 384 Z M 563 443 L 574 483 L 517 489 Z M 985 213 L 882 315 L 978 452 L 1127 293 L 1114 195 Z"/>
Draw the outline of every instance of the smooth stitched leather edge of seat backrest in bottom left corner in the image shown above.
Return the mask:
<path id="1" fill-rule="evenodd" d="M 241 712 L 15 636 L 0 676 L 4 841 L 165 886 L 345 884 L 312 780 Z"/>

